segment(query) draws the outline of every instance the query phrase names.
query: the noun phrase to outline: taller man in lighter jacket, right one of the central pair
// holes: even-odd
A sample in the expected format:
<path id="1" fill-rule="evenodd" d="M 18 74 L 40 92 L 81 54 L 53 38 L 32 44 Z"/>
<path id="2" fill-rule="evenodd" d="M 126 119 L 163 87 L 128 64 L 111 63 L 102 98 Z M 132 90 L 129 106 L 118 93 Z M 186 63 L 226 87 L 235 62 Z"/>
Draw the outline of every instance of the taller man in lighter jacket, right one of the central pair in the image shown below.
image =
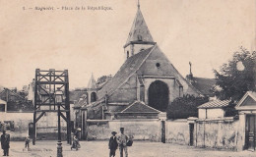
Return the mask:
<path id="1" fill-rule="evenodd" d="M 118 145 L 120 151 L 120 157 L 123 157 L 123 151 L 125 153 L 125 157 L 128 157 L 128 150 L 127 150 L 127 140 L 128 136 L 124 134 L 124 128 L 120 128 L 121 134 L 118 137 Z"/>

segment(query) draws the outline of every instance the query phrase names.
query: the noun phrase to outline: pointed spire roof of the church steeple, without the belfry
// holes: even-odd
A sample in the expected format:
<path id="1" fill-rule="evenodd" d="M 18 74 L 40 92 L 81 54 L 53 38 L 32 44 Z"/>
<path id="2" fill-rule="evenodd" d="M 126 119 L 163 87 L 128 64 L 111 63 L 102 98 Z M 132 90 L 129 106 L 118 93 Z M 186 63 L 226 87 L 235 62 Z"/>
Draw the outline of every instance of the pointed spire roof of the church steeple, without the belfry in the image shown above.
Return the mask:
<path id="1" fill-rule="evenodd" d="M 131 42 L 154 42 L 151 32 L 143 18 L 140 4 L 138 4 L 137 14 L 135 16 L 132 28 L 129 32 L 126 44 L 124 47 L 129 45 Z"/>

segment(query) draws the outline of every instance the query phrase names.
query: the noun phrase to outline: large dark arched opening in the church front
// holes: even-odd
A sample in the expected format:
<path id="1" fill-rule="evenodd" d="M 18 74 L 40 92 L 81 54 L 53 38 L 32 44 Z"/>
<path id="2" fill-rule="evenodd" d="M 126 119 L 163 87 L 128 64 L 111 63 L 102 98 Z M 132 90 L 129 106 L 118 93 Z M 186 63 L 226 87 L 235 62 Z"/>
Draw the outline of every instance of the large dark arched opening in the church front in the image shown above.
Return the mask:
<path id="1" fill-rule="evenodd" d="M 166 111 L 169 103 L 168 85 L 160 80 L 151 83 L 149 87 L 149 105 L 157 110 Z"/>

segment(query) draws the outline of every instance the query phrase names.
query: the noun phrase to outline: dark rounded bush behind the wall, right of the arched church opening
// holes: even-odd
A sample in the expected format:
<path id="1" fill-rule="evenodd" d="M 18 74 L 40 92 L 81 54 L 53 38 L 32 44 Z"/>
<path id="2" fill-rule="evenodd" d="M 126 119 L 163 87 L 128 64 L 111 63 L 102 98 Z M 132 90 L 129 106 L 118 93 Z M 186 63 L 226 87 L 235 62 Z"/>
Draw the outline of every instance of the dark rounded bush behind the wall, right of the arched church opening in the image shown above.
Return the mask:
<path id="1" fill-rule="evenodd" d="M 197 107 L 208 102 L 208 97 L 184 95 L 174 99 L 167 107 L 167 119 L 187 119 L 197 117 Z"/>

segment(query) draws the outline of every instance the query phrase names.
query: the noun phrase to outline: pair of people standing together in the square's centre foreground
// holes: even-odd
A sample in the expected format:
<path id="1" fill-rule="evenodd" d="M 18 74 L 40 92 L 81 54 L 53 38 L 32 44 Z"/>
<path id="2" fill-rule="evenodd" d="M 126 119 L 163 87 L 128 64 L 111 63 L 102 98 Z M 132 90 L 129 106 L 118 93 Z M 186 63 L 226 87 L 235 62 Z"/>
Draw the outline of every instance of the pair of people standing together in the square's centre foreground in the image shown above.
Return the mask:
<path id="1" fill-rule="evenodd" d="M 128 157 L 127 146 L 132 145 L 132 140 L 128 138 L 126 134 L 124 134 L 124 128 L 120 128 L 121 134 L 116 136 L 116 131 L 112 131 L 112 136 L 108 142 L 108 148 L 110 149 L 109 157 L 115 156 L 115 151 L 119 146 L 120 157 L 123 157 L 123 152 L 125 153 L 125 157 Z"/>

